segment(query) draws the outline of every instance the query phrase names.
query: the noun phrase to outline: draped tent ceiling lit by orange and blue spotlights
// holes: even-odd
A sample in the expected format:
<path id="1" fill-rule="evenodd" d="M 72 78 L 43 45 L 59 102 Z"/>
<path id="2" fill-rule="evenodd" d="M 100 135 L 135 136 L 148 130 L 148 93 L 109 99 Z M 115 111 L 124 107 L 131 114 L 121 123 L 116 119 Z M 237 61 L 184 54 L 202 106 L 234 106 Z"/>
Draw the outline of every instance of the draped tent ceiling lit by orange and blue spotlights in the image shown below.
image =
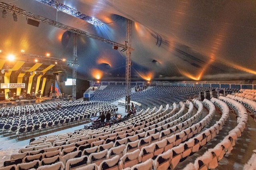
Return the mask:
<path id="1" fill-rule="evenodd" d="M 10 2 L 4 0 L 3 2 Z M 13 2 L 19 8 L 124 44 L 132 20 L 132 80 L 256 80 L 256 2 L 190 0 L 59 0 L 98 18 L 96 27 L 56 12 L 36 0 Z M 2 11 L 1 11 L 2 12 Z M 72 34 L 12 14 L 0 17 L 0 49 L 72 59 Z M 125 52 L 78 36 L 78 74 L 85 79 L 124 80 Z M 70 66 L 71 68 L 71 66 Z"/>

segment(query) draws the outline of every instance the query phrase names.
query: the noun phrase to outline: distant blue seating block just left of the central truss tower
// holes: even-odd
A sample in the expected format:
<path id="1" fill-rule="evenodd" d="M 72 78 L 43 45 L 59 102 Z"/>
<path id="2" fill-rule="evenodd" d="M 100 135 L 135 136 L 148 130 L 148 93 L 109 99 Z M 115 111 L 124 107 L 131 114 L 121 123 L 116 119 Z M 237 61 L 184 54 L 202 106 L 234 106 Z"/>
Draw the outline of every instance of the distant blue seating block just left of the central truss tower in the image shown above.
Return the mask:
<path id="1" fill-rule="evenodd" d="M 90 100 L 112 102 L 123 97 L 124 94 L 125 85 L 108 85 L 103 90 L 96 90 Z"/>

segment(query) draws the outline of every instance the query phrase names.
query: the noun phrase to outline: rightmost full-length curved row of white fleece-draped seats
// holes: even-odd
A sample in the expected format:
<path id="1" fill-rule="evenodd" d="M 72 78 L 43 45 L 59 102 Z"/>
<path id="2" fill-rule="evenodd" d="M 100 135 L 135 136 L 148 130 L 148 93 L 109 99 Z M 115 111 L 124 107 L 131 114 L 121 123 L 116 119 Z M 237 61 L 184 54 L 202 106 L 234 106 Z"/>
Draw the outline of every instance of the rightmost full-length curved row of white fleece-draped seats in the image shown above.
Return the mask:
<path id="1" fill-rule="evenodd" d="M 187 169 L 212 169 L 218 166 L 218 161 L 220 161 L 224 154 L 230 153 L 233 149 L 233 146 L 236 143 L 238 137 L 241 136 L 241 132 L 243 132 L 246 122 L 248 120 L 248 115 L 244 106 L 237 101 L 232 99 L 220 96 L 220 100 L 228 103 L 232 108 L 236 109 L 238 112 L 238 125 L 230 130 L 229 134 L 224 137 L 224 139 L 218 143 L 214 148 L 209 149 L 202 156 L 196 159 L 194 164 L 189 164 Z M 185 169 L 186 169 L 185 168 Z"/>

